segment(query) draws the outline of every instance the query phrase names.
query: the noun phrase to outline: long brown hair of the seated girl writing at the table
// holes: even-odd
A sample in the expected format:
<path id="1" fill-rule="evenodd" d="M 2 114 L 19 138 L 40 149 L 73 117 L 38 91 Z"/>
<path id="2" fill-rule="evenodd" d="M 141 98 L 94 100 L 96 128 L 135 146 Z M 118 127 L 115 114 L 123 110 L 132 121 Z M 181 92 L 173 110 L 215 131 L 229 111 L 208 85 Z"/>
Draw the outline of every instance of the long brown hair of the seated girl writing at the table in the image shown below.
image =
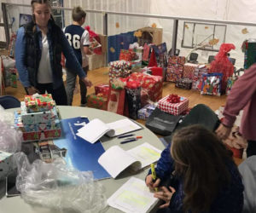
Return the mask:
<path id="1" fill-rule="evenodd" d="M 218 188 L 230 183 L 226 164 L 232 164 L 232 153 L 212 131 L 195 124 L 174 133 L 171 154 L 183 176 L 184 211 L 208 211 Z"/>

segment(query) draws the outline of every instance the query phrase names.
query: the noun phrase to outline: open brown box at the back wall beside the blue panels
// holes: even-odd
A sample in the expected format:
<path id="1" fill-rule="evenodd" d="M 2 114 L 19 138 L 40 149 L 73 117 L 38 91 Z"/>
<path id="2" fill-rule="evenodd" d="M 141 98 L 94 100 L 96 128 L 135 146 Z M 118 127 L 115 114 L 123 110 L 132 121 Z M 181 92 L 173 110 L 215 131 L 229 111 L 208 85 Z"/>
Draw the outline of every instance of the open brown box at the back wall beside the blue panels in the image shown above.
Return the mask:
<path id="1" fill-rule="evenodd" d="M 140 46 L 144 46 L 145 43 L 154 43 L 159 45 L 163 39 L 163 29 L 155 27 L 143 27 L 137 30 L 142 32 L 142 37 L 137 37 L 137 42 Z"/>

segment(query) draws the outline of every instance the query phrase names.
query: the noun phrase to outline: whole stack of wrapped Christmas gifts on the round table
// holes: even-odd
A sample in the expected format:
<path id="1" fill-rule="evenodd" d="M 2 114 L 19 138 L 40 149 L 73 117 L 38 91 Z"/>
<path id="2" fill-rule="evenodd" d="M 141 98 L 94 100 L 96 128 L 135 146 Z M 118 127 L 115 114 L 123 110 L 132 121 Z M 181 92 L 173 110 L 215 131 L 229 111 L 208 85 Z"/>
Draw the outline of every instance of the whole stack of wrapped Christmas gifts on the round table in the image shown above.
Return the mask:
<path id="1" fill-rule="evenodd" d="M 15 111 L 15 128 L 22 141 L 42 141 L 61 136 L 61 121 L 50 94 L 25 95 L 20 110 Z"/>

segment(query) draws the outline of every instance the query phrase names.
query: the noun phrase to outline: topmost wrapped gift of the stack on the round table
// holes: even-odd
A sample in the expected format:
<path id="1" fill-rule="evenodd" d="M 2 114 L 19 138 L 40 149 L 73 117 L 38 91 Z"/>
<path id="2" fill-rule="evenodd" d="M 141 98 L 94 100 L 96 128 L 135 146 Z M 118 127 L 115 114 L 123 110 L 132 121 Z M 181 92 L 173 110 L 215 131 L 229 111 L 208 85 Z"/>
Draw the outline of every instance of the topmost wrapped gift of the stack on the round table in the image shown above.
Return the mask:
<path id="1" fill-rule="evenodd" d="M 50 94 L 25 95 L 26 112 L 44 112 L 55 107 Z"/>

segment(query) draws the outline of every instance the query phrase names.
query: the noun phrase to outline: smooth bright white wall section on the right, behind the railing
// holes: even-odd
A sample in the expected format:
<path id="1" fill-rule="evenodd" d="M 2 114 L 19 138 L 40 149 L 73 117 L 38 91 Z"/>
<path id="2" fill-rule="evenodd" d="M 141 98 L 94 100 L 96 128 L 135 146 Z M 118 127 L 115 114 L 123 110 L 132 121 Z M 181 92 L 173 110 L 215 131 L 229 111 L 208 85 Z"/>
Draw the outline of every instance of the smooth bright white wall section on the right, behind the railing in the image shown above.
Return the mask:
<path id="1" fill-rule="evenodd" d="M 256 2 L 250 0 L 151 0 L 150 14 L 169 15 L 175 17 L 188 17 L 209 20 L 232 20 L 239 22 L 256 23 Z M 172 23 L 173 20 L 151 19 L 149 25 L 154 22 L 157 27 L 164 29 L 163 41 L 167 48 L 172 47 Z M 242 30 L 247 28 L 247 34 Z M 256 38 L 255 26 L 227 25 L 225 43 L 233 43 L 235 50 L 230 51 L 230 57 L 236 58 L 236 66 L 243 66 L 244 54 L 241 52 L 241 43 L 247 38 Z M 183 39 L 183 20 L 178 22 L 177 49 L 181 49 L 180 55 L 187 56 L 191 49 L 181 48 Z M 208 55 L 216 55 L 217 52 L 196 50 L 199 54 L 199 62 L 207 62 Z"/>

